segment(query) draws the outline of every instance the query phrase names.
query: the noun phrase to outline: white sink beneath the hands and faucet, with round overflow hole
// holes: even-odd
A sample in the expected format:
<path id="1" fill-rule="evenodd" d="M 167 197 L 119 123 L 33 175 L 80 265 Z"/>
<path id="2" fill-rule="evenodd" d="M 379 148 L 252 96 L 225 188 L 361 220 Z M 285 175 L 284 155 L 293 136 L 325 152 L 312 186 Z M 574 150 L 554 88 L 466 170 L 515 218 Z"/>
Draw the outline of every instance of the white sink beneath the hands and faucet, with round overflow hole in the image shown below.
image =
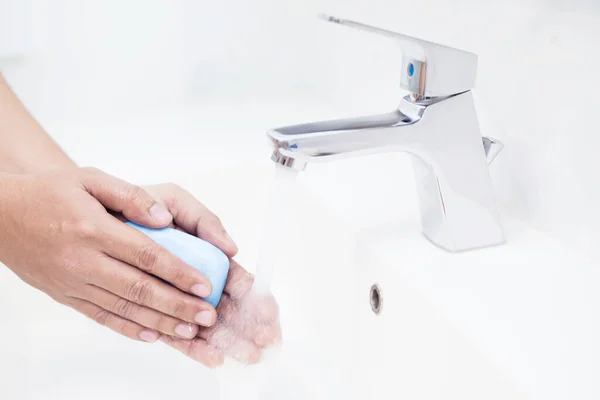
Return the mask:
<path id="1" fill-rule="evenodd" d="M 405 172 L 361 174 L 365 162 Z M 260 398 L 599 398 L 595 265 L 511 220 L 505 246 L 434 247 L 404 163 L 382 156 L 301 175 L 273 284 L 284 344 Z M 173 174 L 222 218 L 251 271 L 273 172 L 265 159 Z M 238 385 L 163 344 L 121 338 L 5 268 L 0 301 L 6 398 L 219 398 L 220 382 Z"/>

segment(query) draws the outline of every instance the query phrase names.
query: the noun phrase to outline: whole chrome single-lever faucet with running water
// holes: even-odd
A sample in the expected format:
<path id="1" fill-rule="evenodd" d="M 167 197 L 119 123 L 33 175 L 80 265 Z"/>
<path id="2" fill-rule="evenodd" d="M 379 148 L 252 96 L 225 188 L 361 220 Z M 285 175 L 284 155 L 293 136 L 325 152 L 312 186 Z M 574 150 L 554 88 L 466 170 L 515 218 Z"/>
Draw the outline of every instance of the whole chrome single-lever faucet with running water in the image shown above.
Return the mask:
<path id="1" fill-rule="evenodd" d="M 504 243 L 488 170 L 502 144 L 479 132 L 471 92 L 477 56 L 359 22 L 323 18 L 398 41 L 400 86 L 408 94 L 389 113 L 272 129 L 271 159 L 304 170 L 311 162 L 408 152 L 414 156 L 425 237 L 451 252 Z"/>

